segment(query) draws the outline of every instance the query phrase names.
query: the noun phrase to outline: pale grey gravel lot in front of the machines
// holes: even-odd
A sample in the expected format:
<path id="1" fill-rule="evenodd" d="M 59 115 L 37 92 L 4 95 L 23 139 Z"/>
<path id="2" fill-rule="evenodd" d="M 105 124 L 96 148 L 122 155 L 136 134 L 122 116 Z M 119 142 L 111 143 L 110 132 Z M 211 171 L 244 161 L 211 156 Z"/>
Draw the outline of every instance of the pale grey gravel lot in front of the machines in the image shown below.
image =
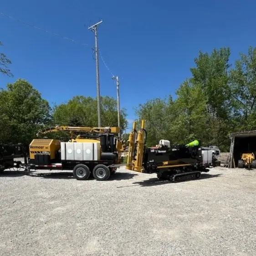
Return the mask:
<path id="1" fill-rule="evenodd" d="M 0 216 L 1 256 L 253 256 L 256 171 L 175 184 L 126 169 L 108 181 L 5 171 Z"/>

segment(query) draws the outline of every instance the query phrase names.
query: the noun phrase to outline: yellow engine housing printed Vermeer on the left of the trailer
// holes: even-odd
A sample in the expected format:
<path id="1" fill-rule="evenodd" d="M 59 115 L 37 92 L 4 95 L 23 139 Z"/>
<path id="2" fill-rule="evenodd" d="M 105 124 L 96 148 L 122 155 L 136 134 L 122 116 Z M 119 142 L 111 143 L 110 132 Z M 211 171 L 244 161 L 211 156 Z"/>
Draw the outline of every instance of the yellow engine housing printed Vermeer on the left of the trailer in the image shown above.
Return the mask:
<path id="1" fill-rule="evenodd" d="M 55 159 L 55 152 L 61 148 L 57 139 L 33 139 L 29 145 L 30 159 L 35 159 L 35 154 L 48 154 Z"/>

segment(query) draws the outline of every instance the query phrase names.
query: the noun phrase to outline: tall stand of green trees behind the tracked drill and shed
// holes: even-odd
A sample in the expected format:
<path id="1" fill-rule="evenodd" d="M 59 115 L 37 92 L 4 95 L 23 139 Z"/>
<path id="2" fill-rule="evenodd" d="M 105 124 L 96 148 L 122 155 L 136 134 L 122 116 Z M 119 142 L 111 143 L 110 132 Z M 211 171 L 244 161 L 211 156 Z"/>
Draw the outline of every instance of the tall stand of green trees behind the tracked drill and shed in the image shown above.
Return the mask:
<path id="1" fill-rule="evenodd" d="M 200 138 L 228 151 L 229 133 L 256 129 L 256 48 L 241 53 L 233 66 L 228 47 L 200 51 L 190 72 L 175 99 L 154 98 L 137 108 L 138 119 L 147 121 L 148 145 Z"/>

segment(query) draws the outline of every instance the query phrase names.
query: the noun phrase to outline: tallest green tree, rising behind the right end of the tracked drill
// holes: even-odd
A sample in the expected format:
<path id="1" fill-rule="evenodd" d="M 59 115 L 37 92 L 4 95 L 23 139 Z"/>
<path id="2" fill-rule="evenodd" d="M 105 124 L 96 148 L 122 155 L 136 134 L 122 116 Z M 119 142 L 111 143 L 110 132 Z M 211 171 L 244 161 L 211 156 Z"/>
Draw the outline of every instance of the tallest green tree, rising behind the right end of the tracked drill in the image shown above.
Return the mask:
<path id="1" fill-rule="evenodd" d="M 205 143 L 217 144 L 226 150 L 229 144 L 228 133 L 232 130 L 232 90 L 230 87 L 230 49 L 214 49 L 211 54 L 199 52 L 195 58 L 195 68 L 191 68 L 192 84 L 201 88 L 207 104 L 207 132 Z M 208 138 L 207 138 L 208 137 Z"/>

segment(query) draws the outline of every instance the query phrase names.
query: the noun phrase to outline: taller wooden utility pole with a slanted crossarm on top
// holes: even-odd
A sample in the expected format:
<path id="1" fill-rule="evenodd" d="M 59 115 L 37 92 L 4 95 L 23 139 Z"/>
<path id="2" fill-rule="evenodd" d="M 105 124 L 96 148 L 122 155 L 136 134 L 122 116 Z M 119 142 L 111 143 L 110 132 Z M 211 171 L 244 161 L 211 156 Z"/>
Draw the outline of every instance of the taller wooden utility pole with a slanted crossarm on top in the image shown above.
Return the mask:
<path id="1" fill-rule="evenodd" d="M 95 60 L 96 60 L 96 86 L 97 86 L 97 114 L 98 114 L 98 127 L 101 127 L 101 112 L 100 112 L 100 75 L 99 75 L 99 59 L 98 59 L 98 36 L 97 26 L 102 23 L 102 20 L 98 23 L 88 27 L 89 30 L 94 32 L 95 35 Z"/>

